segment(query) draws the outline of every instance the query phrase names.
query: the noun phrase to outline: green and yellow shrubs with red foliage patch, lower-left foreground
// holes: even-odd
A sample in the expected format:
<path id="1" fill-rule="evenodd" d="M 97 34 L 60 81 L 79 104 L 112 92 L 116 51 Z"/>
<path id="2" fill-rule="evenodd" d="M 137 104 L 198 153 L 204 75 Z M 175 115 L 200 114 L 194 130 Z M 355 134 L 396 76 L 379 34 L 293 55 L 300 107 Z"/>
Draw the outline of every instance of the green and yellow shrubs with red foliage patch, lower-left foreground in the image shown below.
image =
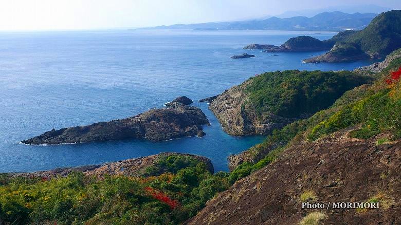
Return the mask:
<path id="1" fill-rule="evenodd" d="M 169 160 L 167 160 L 169 161 Z M 10 224 L 177 224 L 228 189 L 204 163 L 152 177 L 71 173 L 53 179 L 0 176 L 0 222 Z"/>

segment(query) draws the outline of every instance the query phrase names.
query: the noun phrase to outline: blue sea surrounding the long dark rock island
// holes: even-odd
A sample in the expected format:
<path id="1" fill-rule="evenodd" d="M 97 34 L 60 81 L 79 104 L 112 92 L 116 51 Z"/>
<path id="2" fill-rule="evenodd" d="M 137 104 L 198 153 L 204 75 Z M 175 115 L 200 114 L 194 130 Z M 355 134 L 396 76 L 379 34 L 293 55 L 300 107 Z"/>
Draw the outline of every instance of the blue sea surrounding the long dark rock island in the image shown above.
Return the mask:
<path id="1" fill-rule="evenodd" d="M 372 61 L 304 64 L 322 52 L 264 53 L 247 44 L 289 37 L 329 39 L 332 32 L 111 30 L 0 33 L 0 172 L 30 172 L 117 161 L 173 151 L 209 157 L 215 171 L 227 156 L 263 140 L 231 137 L 201 98 L 221 93 L 256 73 L 283 69 L 354 69 Z M 230 59 L 233 54 L 256 58 Z M 52 128 L 134 116 L 185 95 L 211 126 L 203 138 L 110 141 L 30 146 L 21 140 Z"/>

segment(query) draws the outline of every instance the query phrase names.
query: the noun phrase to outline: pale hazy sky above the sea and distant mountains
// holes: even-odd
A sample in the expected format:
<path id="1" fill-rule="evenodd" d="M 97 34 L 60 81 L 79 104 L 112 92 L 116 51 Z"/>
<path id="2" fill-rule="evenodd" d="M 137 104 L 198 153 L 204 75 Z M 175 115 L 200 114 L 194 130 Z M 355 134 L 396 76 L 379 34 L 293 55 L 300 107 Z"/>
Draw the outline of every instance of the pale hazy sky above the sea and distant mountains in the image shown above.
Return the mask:
<path id="1" fill-rule="evenodd" d="M 0 30 L 98 29 L 231 21 L 350 2 L 401 8 L 401 0 L 3 0 Z"/>

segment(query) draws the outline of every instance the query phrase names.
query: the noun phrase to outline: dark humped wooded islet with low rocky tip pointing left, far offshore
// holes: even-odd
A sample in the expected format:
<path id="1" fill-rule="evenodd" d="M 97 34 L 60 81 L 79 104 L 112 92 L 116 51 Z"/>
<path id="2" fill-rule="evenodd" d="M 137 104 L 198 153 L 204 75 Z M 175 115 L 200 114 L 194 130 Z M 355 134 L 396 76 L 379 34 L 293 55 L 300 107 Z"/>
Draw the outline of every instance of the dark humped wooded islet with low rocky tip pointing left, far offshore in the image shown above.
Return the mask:
<path id="1" fill-rule="evenodd" d="M 265 52 L 290 52 L 290 51 L 321 51 L 329 50 L 332 46 L 327 45 L 311 36 L 297 36 L 288 39 L 279 47 L 269 48 Z"/>

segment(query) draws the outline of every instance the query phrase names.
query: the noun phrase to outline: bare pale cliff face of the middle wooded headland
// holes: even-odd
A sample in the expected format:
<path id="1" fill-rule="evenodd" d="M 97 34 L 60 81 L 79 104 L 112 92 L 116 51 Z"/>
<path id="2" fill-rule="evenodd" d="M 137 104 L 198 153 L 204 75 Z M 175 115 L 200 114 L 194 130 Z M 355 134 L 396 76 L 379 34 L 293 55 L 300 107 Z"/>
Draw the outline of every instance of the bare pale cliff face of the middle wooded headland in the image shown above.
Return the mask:
<path id="1" fill-rule="evenodd" d="M 248 103 L 246 86 L 252 79 L 233 86 L 210 102 L 209 109 L 230 135 L 243 136 L 269 134 L 273 129 L 282 128 L 295 119 L 287 119 L 272 113 L 258 115 L 251 103 Z"/>

